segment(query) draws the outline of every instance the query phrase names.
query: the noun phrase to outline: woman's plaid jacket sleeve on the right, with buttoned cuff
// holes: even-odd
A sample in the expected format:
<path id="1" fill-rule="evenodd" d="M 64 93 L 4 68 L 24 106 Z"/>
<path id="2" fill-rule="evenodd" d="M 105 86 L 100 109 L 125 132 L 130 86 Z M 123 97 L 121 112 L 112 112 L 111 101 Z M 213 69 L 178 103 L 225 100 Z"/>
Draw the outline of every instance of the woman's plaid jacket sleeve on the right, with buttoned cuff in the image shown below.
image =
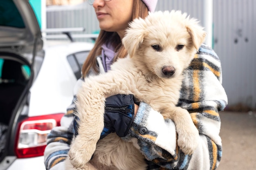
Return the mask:
<path id="1" fill-rule="evenodd" d="M 124 137 L 131 137 L 148 160 L 149 169 L 214 170 L 220 163 L 222 144 L 219 136 L 219 111 L 227 105 L 221 85 L 221 66 L 216 53 L 202 45 L 185 72 L 178 106 L 189 111 L 200 133 L 193 155 L 184 155 L 176 145 L 175 124 L 141 102 L 135 120 Z M 145 132 L 146 131 L 146 132 Z"/>

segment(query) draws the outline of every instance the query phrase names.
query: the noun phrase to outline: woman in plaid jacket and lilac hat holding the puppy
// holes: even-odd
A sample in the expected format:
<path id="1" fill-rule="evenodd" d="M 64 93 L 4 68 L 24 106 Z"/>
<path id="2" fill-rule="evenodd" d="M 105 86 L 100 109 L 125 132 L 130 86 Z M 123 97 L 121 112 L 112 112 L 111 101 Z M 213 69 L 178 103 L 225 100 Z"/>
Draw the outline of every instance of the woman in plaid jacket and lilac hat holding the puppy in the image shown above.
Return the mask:
<path id="1" fill-rule="evenodd" d="M 156 3 L 157 0 L 94 0 L 93 7 L 101 31 L 83 64 L 83 77 L 107 72 L 112 62 L 127 55 L 121 39 L 128 22 L 137 17 L 145 18 L 148 11 L 155 10 Z M 189 111 L 200 133 L 200 143 L 193 155 L 184 155 L 177 147 L 173 121 L 164 121 L 160 113 L 144 102 L 134 104 L 132 95 L 125 98 L 115 95 L 107 99 L 106 106 L 121 107 L 128 104 L 135 109 L 130 117 L 106 110 L 101 139 L 111 132 L 116 132 L 126 141 L 137 138 L 136 145 L 146 158 L 148 170 L 216 169 L 222 155 L 218 112 L 227 105 L 227 96 L 221 85 L 220 60 L 213 50 L 202 45 L 185 75 L 178 106 Z M 83 78 L 77 82 L 75 94 L 82 81 Z M 76 95 L 61 120 L 61 126 L 53 128 L 48 135 L 45 148 L 47 170 L 64 169 L 63 161 L 68 157 L 70 142 L 74 136 L 79 135 L 73 114 L 75 100 Z M 116 120 L 115 124 L 113 120 Z M 176 154 L 171 155 L 168 152 L 170 150 Z"/>

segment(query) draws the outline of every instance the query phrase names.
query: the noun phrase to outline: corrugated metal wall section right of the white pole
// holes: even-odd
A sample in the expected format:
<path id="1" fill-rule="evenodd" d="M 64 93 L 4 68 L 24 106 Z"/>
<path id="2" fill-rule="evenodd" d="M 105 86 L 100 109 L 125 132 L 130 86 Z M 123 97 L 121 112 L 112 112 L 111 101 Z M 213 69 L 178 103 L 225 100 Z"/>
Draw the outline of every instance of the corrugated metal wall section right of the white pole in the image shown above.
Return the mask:
<path id="1" fill-rule="evenodd" d="M 256 109 L 256 1 L 214 0 L 214 50 L 229 105 Z"/>

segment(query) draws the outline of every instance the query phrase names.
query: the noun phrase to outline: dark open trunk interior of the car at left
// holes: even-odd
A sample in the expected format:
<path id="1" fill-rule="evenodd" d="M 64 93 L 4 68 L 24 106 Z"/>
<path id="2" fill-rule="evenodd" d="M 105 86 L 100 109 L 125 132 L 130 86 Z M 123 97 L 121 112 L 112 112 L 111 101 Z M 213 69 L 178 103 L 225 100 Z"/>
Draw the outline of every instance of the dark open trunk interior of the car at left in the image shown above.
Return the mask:
<path id="1" fill-rule="evenodd" d="M 4 155 L 13 155 L 17 121 L 27 102 L 32 79 L 33 71 L 24 57 L 0 52 L 0 160 Z"/>

